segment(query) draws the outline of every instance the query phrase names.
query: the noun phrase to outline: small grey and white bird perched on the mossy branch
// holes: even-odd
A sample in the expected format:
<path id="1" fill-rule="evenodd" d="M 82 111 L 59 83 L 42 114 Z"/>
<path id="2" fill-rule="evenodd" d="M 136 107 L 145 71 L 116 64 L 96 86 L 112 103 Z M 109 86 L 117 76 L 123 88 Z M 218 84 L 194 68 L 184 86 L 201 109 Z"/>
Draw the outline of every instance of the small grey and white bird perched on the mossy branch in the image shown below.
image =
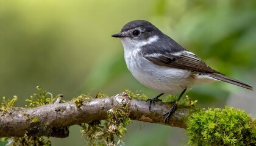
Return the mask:
<path id="1" fill-rule="evenodd" d="M 161 101 L 158 98 L 163 94 L 181 92 L 169 111 L 163 115 L 166 116 L 165 123 L 177 109 L 177 102 L 184 92 L 193 85 L 222 81 L 253 90 L 252 86 L 210 68 L 148 21 L 131 21 L 120 33 L 112 36 L 120 38 L 124 59 L 133 77 L 144 86 L 161 93 L 146 101 L 149 101 L 149 111 L 151 103 Z"/>

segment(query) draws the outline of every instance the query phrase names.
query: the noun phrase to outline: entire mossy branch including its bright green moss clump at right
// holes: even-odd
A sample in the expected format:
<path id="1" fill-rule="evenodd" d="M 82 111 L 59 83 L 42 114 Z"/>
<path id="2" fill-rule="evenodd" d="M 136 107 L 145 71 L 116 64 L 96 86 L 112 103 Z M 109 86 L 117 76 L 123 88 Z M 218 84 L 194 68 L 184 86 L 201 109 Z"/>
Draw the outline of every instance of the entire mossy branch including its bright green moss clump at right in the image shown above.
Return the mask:
<path id="1" fill-rule="evenodd" d="M 37 89 L 39 93 L 26 100 L 29 102 L 26 108 L 13 107 L 16 96 L 2 99 L 0 136 L 9 137 L 10 144 L 51 145 L 49 137 L 67 137 L 68 128 L 78 124 L 90 145 L 118 145 L 123 143 L 126 125 L 131 120 L 187 128 L 190 145 L 254 145 L 256 142 L 256 122 L 249 114 L 231 107 L 196 108 L 197 101 L 188 96 L 178 103 L 176 112 L 165 123 L 162 115 L 176 100 L 173 96 L 155 103 L 149 112 L 145 102 L 148 97 L 138 92 L 126 90 L 112 97 L 99 92 L 94 97 L 82 95 L 60 103 L 63 102 L 60 94 L 53 97 L 39 86 Z"/>

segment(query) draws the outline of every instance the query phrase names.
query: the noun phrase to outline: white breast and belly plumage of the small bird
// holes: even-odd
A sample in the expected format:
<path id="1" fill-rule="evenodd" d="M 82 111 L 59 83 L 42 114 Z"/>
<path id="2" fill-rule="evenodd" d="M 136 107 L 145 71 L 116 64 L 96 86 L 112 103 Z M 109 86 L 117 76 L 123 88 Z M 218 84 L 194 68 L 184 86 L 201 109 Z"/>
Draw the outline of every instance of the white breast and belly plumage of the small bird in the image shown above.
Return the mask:
<path id="1" fill-rule="evenodd" d="M 190 88 L 193 78 L 183 69 L 158 66 L 139 55 L 140 49 L 125 50 L 129 71 L 140 83 L 158 92 L 174 94 Z"/>

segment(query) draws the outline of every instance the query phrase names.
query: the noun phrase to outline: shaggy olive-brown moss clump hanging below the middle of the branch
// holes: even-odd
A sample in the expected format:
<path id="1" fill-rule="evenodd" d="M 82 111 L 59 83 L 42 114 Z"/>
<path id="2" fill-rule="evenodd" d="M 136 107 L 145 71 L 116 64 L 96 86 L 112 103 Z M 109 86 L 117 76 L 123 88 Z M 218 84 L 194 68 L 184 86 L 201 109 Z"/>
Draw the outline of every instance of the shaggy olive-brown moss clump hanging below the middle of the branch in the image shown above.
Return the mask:
<path id="1" fill-rule="evenodd" d="M 82 134 L 88 140 L 88 145 L 119 145 L 126 134 L 129 119 L 129 108 L 126 104 L 118 105 L 108 111 L 107 120 L 82 123 Z"/>

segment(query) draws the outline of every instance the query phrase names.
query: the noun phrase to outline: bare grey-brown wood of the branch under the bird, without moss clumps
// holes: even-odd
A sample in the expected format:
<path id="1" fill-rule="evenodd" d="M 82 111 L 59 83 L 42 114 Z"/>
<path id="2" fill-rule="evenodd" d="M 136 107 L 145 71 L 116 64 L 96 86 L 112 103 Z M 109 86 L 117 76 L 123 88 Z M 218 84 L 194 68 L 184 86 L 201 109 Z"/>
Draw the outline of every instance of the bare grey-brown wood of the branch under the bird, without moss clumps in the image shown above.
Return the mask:
<path id="1" fill-rule="evenodd" d="M 28 136 L 67 137 L 68 127 L 79 123 L 90 123 L 107 119 L 107 111 L 116 106 L 128 106 L 130 119 L 144 122 L 160 123 L 172 127 L 185 128 L 184 118 L 194 108 L 179 107 L 164 123 L 162 116 L 168 111 L 171 103 L 155 103 L 149 112 L 149 103 L 144 100 L 131 99 L 127 94 L 91 99 L 83 102 L 79 108 L 73 102 L 54 103 L 37 108 L 15 108 L 0 116 L 0 137 Z"/>

